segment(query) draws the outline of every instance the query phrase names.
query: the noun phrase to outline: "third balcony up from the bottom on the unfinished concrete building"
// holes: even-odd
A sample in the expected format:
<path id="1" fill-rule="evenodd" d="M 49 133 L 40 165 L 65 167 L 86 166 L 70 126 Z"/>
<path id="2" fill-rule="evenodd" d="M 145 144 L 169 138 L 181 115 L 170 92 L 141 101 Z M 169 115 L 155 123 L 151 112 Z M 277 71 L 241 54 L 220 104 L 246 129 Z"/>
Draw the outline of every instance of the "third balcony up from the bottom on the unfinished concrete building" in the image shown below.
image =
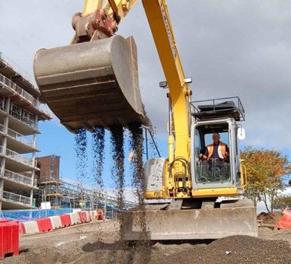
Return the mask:
<path id="1" fill-rule="evenodd" d="M 6 158 L 5 167 L 13 172 L 27 172 L 29 170 L 39 170 L 33 163 L 33 158 L 23 156 L 11 149 L 6 149 L 4 153 L 3 146 L 0 146 L 0 155 Z"/>

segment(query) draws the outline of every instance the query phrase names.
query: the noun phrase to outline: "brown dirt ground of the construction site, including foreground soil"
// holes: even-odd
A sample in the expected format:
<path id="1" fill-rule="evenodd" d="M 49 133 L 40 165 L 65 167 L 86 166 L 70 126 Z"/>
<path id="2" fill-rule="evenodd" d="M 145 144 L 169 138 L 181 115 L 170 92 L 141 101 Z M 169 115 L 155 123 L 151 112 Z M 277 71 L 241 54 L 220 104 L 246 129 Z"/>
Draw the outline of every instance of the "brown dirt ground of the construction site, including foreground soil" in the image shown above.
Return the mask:
<path id="1" fill-rule="evenodd" d="M 259 228 L 258 238 L 155 242 L 148 246 L 118 242 L 115 221 L 91 222 L 20 238 L 19 256 L 3 263 L 291 263 L 291 230 Z"/>

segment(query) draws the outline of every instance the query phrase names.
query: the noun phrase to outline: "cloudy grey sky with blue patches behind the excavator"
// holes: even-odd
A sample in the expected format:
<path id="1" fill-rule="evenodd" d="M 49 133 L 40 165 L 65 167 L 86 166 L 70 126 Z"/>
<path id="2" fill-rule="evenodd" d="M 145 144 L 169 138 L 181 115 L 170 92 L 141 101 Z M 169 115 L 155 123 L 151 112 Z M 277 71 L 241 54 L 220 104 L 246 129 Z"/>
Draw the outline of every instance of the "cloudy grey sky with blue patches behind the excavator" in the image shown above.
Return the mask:
<path id="1" fill-rule="evenodd" d="M 242 145 L 291 156 L 291 1 L 167 2 L 184 72 L 194 79 L 193 100 L 239 96 L 246 110 Z M 0 51 L 33 76 L 36 51 L 69 44 L 72 15 L 82 6 L 81 0 L 0 1 Z M 136 40 L 143 103 L 167 156 L 164 74 L 141 1 L 118 34 Z M 57 119 L 41 122 L 40 131 L 38 155 L 61 156 L 61 176 L 74 179 L 74 135 Z M 107 167 L 109 152 L 107 146 Z"/>

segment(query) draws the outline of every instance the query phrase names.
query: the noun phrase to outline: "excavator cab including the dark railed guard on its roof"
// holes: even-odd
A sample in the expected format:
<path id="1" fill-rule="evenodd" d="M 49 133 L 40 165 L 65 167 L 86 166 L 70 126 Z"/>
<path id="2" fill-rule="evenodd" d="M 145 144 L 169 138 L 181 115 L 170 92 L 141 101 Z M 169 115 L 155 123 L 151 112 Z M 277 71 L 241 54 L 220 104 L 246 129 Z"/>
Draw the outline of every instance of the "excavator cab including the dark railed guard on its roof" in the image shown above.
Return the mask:
<path id="1" fill-rule="evenodd" d="M 238 97 L 192 102 L 191 156 L 192 188 L 237 188 L 243 192 L 244 175 L 239 160 L 238 136 L 244 121 L 244 108 Z M 212 101 L 212 104 L 209 104 Z M 219 101 L 223 101 L 220 103 Z M 218 146 L 218 156 L 210 156 L 212 136 L 219 134 L 219 144 L 225 145 L 225 154 Z M 206 154 L 206 155 L 205 155 Z"/>

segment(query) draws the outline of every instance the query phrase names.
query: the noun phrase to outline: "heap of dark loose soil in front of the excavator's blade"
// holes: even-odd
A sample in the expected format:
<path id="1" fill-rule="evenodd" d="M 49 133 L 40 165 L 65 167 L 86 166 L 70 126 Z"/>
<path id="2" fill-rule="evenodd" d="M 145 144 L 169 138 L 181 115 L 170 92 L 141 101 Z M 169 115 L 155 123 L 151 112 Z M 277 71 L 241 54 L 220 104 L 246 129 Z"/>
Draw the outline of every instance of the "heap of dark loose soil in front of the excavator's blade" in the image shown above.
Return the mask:
<path id="1" fill-rule="evenodd" d="M 178 250 L 178 248 L 184 248 Z M 157 263 L 290 263 L 288 242 L 268 241 L 249 236 L 230 236 L 208 245 L 159 245 L 152 260 Z"/>

